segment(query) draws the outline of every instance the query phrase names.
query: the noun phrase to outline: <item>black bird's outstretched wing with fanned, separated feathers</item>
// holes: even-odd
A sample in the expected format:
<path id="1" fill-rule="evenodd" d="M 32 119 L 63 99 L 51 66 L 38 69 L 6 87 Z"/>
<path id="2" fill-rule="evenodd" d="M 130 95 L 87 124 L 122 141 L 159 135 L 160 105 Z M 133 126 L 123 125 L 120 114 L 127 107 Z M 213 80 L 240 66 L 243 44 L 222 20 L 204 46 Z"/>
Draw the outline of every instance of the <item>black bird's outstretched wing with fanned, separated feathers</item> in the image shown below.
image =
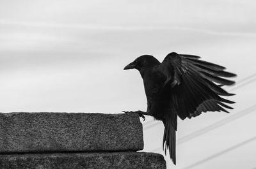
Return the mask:
<path id="1" fill-rule="evenodd" d="M 232 96 L 223 85 L 232 85 L 235 82 L 227 80 L 236 77 L 225 67 L 211 62 L 200 60 L 196 55 L 182 55 L 170 53 L 162 62 L 166 81 L 172 90 L 172 103 L 180 119 L 196 117 L 207 111 L 228 112 L 232 109 L 227 103 L 234 103 L 220 96 Z M 223 78 L 225 77 L 225 78 Z"/>

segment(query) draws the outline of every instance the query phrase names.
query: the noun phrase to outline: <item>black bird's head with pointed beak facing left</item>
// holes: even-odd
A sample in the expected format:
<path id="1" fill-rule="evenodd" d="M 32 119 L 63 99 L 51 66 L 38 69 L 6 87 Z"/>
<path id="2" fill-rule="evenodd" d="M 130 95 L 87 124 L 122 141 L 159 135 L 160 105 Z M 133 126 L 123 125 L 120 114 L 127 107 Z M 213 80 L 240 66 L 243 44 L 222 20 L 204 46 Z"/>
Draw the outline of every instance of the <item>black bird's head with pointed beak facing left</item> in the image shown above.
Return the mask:
<path id="1" fill-rule="evenodd" d="M 124 70 L 136 69 L 138 71 L 142 71 L 148 68 L 152 68 L 160 64 L 160 62 L 152 55 L 141 55 L 133 62 L 125 66 Z"/>

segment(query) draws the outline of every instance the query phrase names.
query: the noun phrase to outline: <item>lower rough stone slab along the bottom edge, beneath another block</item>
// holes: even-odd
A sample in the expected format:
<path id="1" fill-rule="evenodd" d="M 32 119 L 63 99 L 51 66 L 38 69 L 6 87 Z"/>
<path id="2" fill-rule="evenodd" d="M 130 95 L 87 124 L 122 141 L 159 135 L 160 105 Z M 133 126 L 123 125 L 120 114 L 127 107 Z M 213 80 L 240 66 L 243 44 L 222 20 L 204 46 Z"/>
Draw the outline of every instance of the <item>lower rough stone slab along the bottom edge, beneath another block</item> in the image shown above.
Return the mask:
<path id="1" fill-rule="evenodd" d="M 87 152 L 69 154 L 0 155 L 0 168 L 8 169 L 164 169 L 161 154 L 149 152 Z"/>

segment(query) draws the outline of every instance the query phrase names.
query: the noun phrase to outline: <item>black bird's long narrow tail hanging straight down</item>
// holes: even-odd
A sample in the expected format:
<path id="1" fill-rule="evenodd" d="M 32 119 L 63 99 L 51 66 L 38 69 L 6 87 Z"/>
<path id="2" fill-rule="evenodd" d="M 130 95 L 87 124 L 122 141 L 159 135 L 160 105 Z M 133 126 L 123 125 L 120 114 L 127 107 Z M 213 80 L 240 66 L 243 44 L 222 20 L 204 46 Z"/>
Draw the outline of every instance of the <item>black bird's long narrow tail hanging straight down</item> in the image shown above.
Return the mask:
<path id="1" fill-rule="evenodd" d="M 171 122 L 164 122 L 163 149 L 166 155 L 166 149 L 169 149 L 170 158 L 176 165 L 176 129 Z M 164 145 L 165 143 L 165 145 Z"/>

